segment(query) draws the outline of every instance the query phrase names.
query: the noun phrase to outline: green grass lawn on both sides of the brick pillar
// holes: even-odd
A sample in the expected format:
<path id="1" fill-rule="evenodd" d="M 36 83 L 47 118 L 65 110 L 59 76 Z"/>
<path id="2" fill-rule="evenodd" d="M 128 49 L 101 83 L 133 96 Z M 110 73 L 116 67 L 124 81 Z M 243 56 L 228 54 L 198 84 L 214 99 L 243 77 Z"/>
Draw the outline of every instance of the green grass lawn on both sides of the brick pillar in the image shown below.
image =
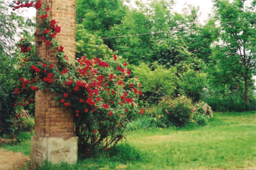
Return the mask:
<path id="1" fill-rule="evenodd" d="M 205 127 L 133 131 L 114 150 L 74 165 L 45 163 L 40 169 L 256 168 L 256 112 L 214 117 Z M 4 147 L 29 154 L 30 143 L 23 143 Z"/>

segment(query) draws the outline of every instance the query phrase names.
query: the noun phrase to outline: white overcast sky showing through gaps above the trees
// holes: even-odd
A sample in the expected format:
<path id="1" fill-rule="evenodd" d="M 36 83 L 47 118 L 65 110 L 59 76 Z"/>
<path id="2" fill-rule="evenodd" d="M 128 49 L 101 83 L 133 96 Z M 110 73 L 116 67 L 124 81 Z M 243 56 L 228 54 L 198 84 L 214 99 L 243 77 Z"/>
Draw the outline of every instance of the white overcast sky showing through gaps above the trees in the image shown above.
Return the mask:
<path id="1" fill-rule="evenodd" d="M 12 0 L 5 0 L 8 2 L 11 2 Z M 136 0 L 131 0 L 131 3 L 134 4 Z M 142 2 L 149 2 L 147 0 L 141 0 Z M 231 0 L 229 0 L 231 1 Z M 252 0 L 248 0 L 247 3 L 252 2 Z M 190 4 L 193 6 L 199 6 L 199 21 L 200 23 L 204 24 L 204 21 L 207 20 L 208 15 L 212 13 L 212 7 L 213 3 L 212 0 L 175 0 L 175 6 L 174 6 L 174 11 L 178 13 L 182 13 L 182 9 L 187 7 L 185 4 Z M 26 11 L 26 12 L 25 12 Z M 30 8 L 28 10 L 25 10 L 23 12 L 23 16 L 33 18 L 35 17 L 35 9 Z M 256 76 L 253 76 L 253 79 L 256 80 Z M 254 83 L 254 86 L 256 87 L 256 82 Z"/>

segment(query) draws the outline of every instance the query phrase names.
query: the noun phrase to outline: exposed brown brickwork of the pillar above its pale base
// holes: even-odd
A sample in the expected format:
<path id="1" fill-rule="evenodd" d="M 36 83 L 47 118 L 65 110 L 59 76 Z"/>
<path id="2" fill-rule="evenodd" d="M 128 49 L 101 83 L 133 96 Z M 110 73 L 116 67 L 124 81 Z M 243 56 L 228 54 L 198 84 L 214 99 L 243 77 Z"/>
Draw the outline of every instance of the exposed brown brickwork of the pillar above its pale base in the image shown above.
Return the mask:
<path id="1" fill-rule="evenodd" d="M 75 59 L 75 0 L 41 0 L 42 9 L 50 7 L 47 12 L 61 27 L 61 32 L 55 37 L 64 47 L 69 60 Z M 37 22 L 40 22 L 37 12 Z M 36 42 L 36 55 L 57 64 L 54 54 L 45 42 Z M 49 90 L 36 92 L 35 98 L 35 139 L 37 137 L 63 137 L 74 135 L 73 116 L 66 108 L 54 105 L 55 93 Z"/>

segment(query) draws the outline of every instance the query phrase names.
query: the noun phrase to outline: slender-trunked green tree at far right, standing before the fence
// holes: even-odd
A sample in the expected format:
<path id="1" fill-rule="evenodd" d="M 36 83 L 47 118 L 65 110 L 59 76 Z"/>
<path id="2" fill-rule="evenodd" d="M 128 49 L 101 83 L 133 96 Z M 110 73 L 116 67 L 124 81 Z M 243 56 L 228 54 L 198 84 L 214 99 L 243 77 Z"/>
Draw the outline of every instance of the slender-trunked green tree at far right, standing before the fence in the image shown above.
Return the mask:
<path id="1" fill-rule="evenodd" d="M 215 0 L 215 17 L 221 21 L 220 45 L 225 56 L 221 59 L 227 64 L 236 62 L 241 68 L 241 76 L 245 82 L 244 99 L 249 104 L 248 80 L 255 75 L 256 68 L 256 8 L 255 1 L 250 7 L 246 0 Z M 254 19 L 253 19 L 254 18 Z M 224 63 L 223 62 L 223 63 Z"/>

